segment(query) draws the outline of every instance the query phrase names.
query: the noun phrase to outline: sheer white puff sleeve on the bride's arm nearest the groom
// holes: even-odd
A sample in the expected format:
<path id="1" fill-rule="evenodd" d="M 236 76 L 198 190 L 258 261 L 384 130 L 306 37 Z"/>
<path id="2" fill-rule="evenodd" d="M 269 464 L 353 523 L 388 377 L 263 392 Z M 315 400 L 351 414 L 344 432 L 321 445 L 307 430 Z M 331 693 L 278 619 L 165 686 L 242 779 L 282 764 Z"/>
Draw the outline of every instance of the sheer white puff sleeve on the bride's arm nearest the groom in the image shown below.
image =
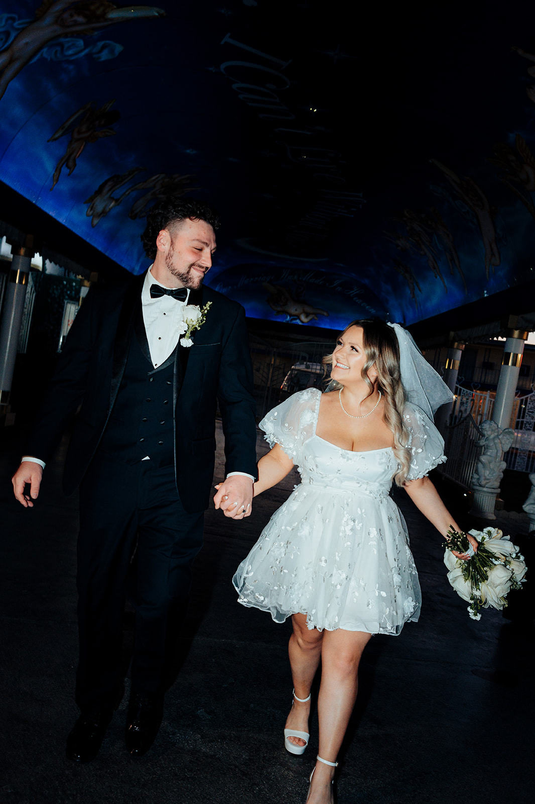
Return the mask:
<path id="1" fill-rule="evenodd" d="M 317 388 L 305 388 L 270 410 L 259 424 L 270 447 L 280 444 L 295 464 L 300 463 L 304 442 L 316 432 L 320 397 Z"/>

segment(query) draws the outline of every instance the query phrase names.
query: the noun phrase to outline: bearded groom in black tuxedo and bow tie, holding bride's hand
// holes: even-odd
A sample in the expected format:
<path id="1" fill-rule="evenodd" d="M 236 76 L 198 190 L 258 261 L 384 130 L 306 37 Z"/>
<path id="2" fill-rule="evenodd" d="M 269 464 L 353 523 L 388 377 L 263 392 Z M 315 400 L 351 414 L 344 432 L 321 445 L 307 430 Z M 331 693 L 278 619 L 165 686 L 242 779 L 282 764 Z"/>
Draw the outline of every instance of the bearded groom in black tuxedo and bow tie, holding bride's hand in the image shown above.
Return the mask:
<path id="1" fill-rule="evenodd" d="M 227 463 L 215 507 L 235 519 L 251 513 L 255 402 L 244 311 L 202 285 L 216 228 L 218 216 L 194 199 L 153 208 L 141 237 L 153 265 L 125 285 L 88 293 L 14 474 L 15 497 L 33 507 L 45 462 L 81 405 L 63 478 L 66 494 L 80 484 L 81 714 L 67 738 L 74 761 L 96 757 L 120 702 L 127 575 L 136 612 L 129 753 L 141 756 L 157 735 L 165 644 L 202 546 L 217 405 Z M 195 317 L 186 339 L 184 321 Z"/>

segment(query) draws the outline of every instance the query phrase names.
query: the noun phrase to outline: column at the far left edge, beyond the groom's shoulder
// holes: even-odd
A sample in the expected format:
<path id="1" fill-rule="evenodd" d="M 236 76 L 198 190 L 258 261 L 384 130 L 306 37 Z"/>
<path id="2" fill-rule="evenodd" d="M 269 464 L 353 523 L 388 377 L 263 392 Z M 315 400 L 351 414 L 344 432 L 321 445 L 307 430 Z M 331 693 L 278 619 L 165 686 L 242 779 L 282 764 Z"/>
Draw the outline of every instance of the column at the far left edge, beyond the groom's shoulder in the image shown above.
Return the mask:
<path id="1" fill-rule="evenodd" d="M 23 245 L 11 246 L 10 274 L 0 322 L 0 414 L 6 416 L 5 424 L 12 424 L 9 401 L 15 359 L 17 358 L 18 335 L 24 310 L 24 299 L 34 256 L 34 237 L 27 235 Z"/>

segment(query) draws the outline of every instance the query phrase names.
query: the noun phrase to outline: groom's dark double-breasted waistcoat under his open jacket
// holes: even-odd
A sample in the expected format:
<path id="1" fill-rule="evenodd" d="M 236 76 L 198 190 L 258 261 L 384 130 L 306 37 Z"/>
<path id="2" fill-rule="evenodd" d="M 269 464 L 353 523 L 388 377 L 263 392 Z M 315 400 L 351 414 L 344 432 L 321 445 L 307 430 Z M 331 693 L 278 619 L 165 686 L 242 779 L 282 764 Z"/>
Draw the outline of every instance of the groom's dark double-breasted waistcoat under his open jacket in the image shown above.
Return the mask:
<path id="1" fill-rule="evenodd" d="M 149 360 L 145 328 L 136 327 L 125 374 L 100 449 L 133 464 L 149 456 L 156 466 L 174 463 L 174 351 L 157 368 Z M 143 347 L 139 343 L 143 339 Z"/>

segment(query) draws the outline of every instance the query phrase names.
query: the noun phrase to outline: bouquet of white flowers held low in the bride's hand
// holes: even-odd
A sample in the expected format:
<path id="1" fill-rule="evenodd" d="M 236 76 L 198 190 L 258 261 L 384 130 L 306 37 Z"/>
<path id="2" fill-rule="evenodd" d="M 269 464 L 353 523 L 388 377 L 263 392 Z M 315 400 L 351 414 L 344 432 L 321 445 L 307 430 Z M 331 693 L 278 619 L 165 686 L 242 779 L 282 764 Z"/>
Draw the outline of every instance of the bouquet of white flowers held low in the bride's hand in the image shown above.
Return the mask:
<path id="1" fill-rule="evenodd" d="M 447 531 L 447 541 L 443 544 L 446 548 L 444 564 L 449 570 L 447 580 L 459 597 L 470 603 L 470 617 L 480 620 L 480 609 L 487 609 L 489 605 L 493 609 L 503 609 L 507 605 L 509 590 L 521 589 L 526 566 L 516 545 L 498 528 L 470 531 L 470 535 L 479 543 L 477 552 L 465 533 L 453 529 Z M 452 550 L 471 557 L 459 559 Z"/>

